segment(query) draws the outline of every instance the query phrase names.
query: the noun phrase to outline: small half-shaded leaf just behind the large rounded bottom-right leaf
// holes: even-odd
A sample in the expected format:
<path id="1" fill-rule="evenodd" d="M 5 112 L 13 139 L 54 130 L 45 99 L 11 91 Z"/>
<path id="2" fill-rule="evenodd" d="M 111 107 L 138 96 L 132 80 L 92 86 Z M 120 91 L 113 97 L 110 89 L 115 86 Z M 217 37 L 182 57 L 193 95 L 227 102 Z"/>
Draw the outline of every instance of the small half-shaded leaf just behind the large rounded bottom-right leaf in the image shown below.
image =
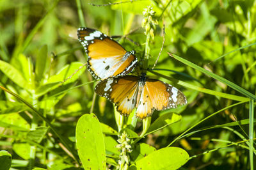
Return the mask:
<path id="1" fill-rule="evenodd" d="M 140 143 L 134 146 L 130 155 L 132 160 L 136 162 L 137 160 L 140 160 L 141 158 L 146 157 L 153 151 L 156 151 L 156 148 L 154 148 L 153 146 L 150 146 L 149 144 L 145 144 L 145 143 Z"/>

